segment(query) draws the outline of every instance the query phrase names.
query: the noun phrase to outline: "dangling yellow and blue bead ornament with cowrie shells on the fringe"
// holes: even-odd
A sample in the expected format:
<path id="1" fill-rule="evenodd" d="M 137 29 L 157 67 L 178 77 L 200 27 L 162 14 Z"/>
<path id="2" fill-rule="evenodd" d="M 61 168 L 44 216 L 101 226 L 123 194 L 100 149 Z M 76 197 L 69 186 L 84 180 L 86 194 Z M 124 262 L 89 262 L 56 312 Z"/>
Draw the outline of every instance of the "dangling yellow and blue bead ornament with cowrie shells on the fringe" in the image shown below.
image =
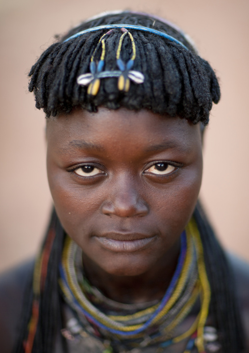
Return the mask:
<path id="1" fill-rule="evenodd" d="M 113 29 L 112 29 L 113 30 Z M 119 67 L 119 70 L 107 70 L 103 71 L 104 67 L 104 57 L 105 57 L 105 37 L 112 32 L 112 30 L 109 30 L 107 33 L 103 34 L 99 40 L 99 43 L 97 47 L 94 50 L 94 53 L 91 57 L 91 62 L 90 62 L 90 73 L 82 74 L 77 78 L 77 84 L 80 86 L 88 86 L 87 93 L 91 95 L 97 95 L 99 88 L 100 88 L 100 79 L 101 78 L 107 78 L 107 77 L 118 77 L 118 88 L 121 91 L 128 92 L 130 88 L 130 80 L 135 82 L 136 84 L 141 84 L 144 82 L 144 75 L 135 70 L 131 70 L 134 64 L 134 60 L 136 58 L 136 46 L 134 42 L 134 38 L 131 35 L 131 33 L 125 29 L 121 28 L 121 31 L 123 34 L 121 35 L 117 53 L 116 53 L 116 62 L 117 66 Z M 121 58 L 121 49 L 122 49 L 122 44 L 123 40 L 125 38 L 125 35 L 129 35 L 130 40 L 131 40 L 131 45 L 132 45 L 132 56 L 131 59 L 128 60 L 127 63 L 125 63 Z M 97 63 L 94 61 L 95 54 L 98 50 L 98 48 L 102 47 L 102 52 L 100 56 L 100 60 Z"/>

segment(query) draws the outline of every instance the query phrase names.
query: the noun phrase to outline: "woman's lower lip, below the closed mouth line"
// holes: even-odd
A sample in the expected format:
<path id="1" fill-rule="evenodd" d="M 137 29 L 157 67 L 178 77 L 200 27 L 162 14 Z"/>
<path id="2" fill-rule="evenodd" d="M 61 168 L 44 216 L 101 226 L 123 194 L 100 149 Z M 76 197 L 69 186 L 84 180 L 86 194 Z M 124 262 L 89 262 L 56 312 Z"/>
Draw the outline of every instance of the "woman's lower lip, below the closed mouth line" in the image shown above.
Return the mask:
<path id="1" fill-rule="evenodd" d="M 96 236 L 96 239 L 107 250 L 117 253 L 131 253 L 147 247 L 155 239 L 155 236 L 137 240 L 115 240 L 99 236 Z"/>

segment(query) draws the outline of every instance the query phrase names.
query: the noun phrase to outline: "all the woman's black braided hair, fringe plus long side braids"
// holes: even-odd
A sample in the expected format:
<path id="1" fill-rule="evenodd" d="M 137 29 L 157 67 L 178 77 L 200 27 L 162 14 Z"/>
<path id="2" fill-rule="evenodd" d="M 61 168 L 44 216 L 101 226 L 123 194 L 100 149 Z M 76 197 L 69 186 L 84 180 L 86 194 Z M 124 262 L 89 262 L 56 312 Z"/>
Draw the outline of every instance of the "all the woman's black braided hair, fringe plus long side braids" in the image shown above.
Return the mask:
<path id="1" fill-rule="evenodd" d="M 77 84 L 79 75 L 89 72 L 91 56 L 97 47 L 103 30 L 84 33 L 69 41 L 75 33 L 101 25 L 131 24 L 166 32 L 182 42 L 180 45 L 153 33 L 130 32 L 136 44 L 134 70 L 144 74 L 141 85 L 131 83 L 127 92 L 117 88 L 117 78 L 101 79 L 96 95 L 87 93 L 87 87 Z M 105 69 L 115 70 L 116 51 L 120 39 L 120 29 L 114 29 L 106 37 Z M 131 56 L 131 44 L 126 36 L 123 43 L 122 59 L 127 62 Z M 100 53 L 97 53 L 100 56 Z M 109 109 L 125 107 L 130 110 L 149 109 L 154 113 L 179 116 L 193 124 L 206 125 L 212 102 L 218 103 L 220 88 L 215 73 L 209 63 L 201 59 L 192 44 L 179 30 L 163 21 L 146 14 L 129 11 L 100 16 L 82 23 L 52 44 L 30 70 L 29 91 L 33 91 L 36 107 L 43 109 L 47 118 L 60 113 L 70 113 L 74 107 L 96 112 L 98 107 Z M 235 353 L 243 349 L 241 319 L 237 308 L 231 271 L 223 249 L 217 241 L 205 215 L 198 204 L 194 213 L 204 249 L 204 260 L 211 287 L 210 313 L 215 326 L 221 333 L 224 352 Z M 52 239 L 52 240 L 51 240 Z M 36 333 L 32 338 L 32 353 L 54 351 L 55 337 L 62 328 L 62 298 L 58 285 L 58 267 L 64 241 L 64 231 L 53 211 L 50 228 L 41 253 L 46 253 L 46 271 L 43 278 L 43 291 L 37 294 L 29 285 L 25 296 L 24 311 L 20 324 L 20 337 L 15 353 L 24 353 L 28 335 L 28 325 L 35 310 L 39 307 Z M 48 245 L 50 244 L 50 245 Z M 49 252 L 48 252 L 49 249 Z M 65 339 L 61 337 L 62 349 L 67 352 Z"/>

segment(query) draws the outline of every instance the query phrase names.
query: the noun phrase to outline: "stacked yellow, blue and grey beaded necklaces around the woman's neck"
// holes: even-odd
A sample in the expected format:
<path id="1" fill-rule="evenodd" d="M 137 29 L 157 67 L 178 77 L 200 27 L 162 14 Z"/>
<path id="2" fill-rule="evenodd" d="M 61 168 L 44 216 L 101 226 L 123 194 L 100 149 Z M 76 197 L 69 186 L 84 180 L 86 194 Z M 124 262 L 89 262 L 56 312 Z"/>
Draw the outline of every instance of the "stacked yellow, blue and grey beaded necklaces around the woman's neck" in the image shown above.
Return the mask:
<path id="1" fill-rule="evenodd" d="M 115 307 L 115 302 L 105 298 L 83 277 L 80 261 L 81 250 L 67 237 L 60 265 L 60 286 L 65 300 L 89 334 L 94 332 L 111 345 L 122 342 L 127 350 L 155 344 L 164 348 L 189 339 L 184 353 L 189 353 L 194 346 L 199 353 L 204 352 L 210 286 L 199 231 L 193 219 L 181 235 L 178 264 L 163 299 L 136 312 L 134 307 L 120 304 L 127 309 L 121 315 L 120 305 L 116 303 Z M 199 299 L 201 305 L 195 322 L 187 331 L 176 335 L 175 330 Z"/>

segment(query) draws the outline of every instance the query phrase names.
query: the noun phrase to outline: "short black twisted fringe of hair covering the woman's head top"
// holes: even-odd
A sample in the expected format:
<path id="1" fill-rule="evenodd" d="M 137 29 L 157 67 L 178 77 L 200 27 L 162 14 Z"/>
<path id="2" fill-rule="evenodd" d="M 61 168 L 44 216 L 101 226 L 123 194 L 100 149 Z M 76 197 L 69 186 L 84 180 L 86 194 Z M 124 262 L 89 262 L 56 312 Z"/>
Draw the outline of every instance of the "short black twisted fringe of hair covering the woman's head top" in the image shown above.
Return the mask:
<path id="1" fill-rule="evenodd" d="M 166 32 L 189 50 L 156 34 L 130 29 L 136 45 L 133 69 L 144 74 L 144 83 L 132 83 L 128 92 L 122 92 L 117 88 L 116 78 L 101 79 L 98 94 L 89 95 L 87 88 L 79 86 L 76 79 L 89 72 L 91 55 L 108 29 L 84 33 L 67 42 L 64 40 L 84 29 L 121 23 Z M 117 70 L 116 51 L 121 34 L 120 29 L 115 29 L 106 38 L 105 70 Z M 128 37 L 124 47 L 122 59 L 127 62 L 131 56 Z M 180 32 L 149 15 L 129 12 L 103 16 L 72 29 L 42 54 L 29 76 L 29 91 L 34 91 L 36 107 L 43 108 L 47 117 L 70 113 L 78 106 L 90 112 L 104 106 L 109 109 L 149 109 L 162 115 L 178 115 L 194 124 L 199 121 L 207 124 L 212 102 L 218 103 L 220 99 L 213 69 L 195 53 Z"/>

